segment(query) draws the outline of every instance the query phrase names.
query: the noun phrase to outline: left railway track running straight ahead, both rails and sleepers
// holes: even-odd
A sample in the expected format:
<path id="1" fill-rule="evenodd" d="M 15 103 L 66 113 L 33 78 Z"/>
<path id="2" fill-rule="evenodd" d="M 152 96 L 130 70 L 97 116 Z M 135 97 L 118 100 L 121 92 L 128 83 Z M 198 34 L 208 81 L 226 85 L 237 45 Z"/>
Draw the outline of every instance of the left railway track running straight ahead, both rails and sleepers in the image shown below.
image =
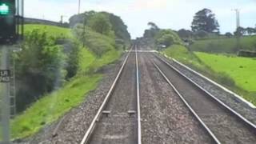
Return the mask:
<path id="1" fill-rule="evenodd" d="M 135 50 L 133 50 L 133 49 L 135 49 Z M 94 143 L 94 142 L 91 142 L 92 141 L 92 137 L 95 135 L 95 131 L 96 131 L 96 129 L 97 129 L 97 126 L 99 126 L 100 124 L 102 124 L 102 125 L 105 125 L 104 124 L 104 122 L 103 123 L 100 123 L 100 121 L 101 121 L 101 119 L 102 119 L 102 117 L 103 117 L 103 115 L 102 115 L 102 113 L 103 113 L 103 111 L 104 110 L 106 110 L 106 109 L 110 109 L 109 107 L 110 107 L 110 101 L 111 101 L 111 99 L 113 99 L 113 94 L 114 94 L 114 92 L 115 92 L 115 90 L 116 90 L 116 88 L 118 87 L 118 82 L 120 82 L 121 80 L 122 80 L 122 74 L 124 73 L 124 69 L 125 69 L 125 67 L 127 66 L 127 62 L 128 62 L 128 60 L 129 60 L 129 58 L 130 58 L 130 55 L 131 55 L 131 53 L 133 53 L 132 51 L 134 51 L 135 52 L 135 56 L 136 56 L 136 59 L 135 59 L 135 61 L 136 61 L 136 77 L 134 76 L 134 78 L 136 78 L 136 98 L 134 98 L 134 99 L 136 99 L 136 103 L 137 103 L 137 105 L 136 106 L 134 106 L 134 107 L 136 107 L 136 109 L 137 109 L 137 111 L 134 111 L 135 112 L 135 114 L 134 115 L 136 115 L 136 118 L 132 118 L 132 119 L 134 119 L 134 120 L 130 120 L 129 122 L 137 122 L 137 124 L 135 124 L 134 125 L 134 127 L 132 127 L 132 126 L 130 126 L 130 125 L 128 125 L 128 124 L 126 124 L 126 126 L 130 126 L 130 128 L 129 128 L 129 130 L 133 130 L 133 129 L 137 129 L 137 130 L 134 130 L 134 134 L 133 134 L 133 136 L 134 136 L 134 138 L 136 139 L 137 138 L 137 142 L 138 142 L 138 144 L 141 144 L 141 119 L 140 119 L 140 103 L 139 103 L 139 94 L 140 94 L 140 92 L 139 92 L 139 82 L 138 82 L 138 54 L 137 54 L 137 46 L 133 46 L 130 50 L 129 50 L 129 52 L 128 52 L 128 54 L 127 54 L 127 56 L 126 56 L 126 59 L 125 59 L 125 61 L 123 62 L 123 64 L 122 64 L 122 67 L 121 67 L 121 69 L 119 70 L 119 72 L 118 72 L 118 74 L 117 74 L 117 76 L 116 76 L 116 78 L 114 79 L 114 82 L 113 82 L 113 84 L 112 84 L 112 86 L 111 86 L 111 88 L 110 88 L 110 90 L 109 90 L 109 92 L 108 92 L 108 94 L 106 95 L 106 98 L 104 99 L 104 101 L 102 102 L 102 105 L 100 106 L 100 108 L 98 109 L 98 112 L 97 112 L 97 114 L 94 116 L 94 119 L 93 119 L 93 121 L 91 122 L 91 124 L 90 124 L 90 127 L 88 128 L 88 130 L 86 130 L 86 134 L 84 135 L 84 137 L 82 138 L 82 142 L 81 142 L 81 144 L 87 144 L 87 143 Z M 120 87 L 119 87 L 120 88 Z M 122 89 L 126 89 L 126 87 L 122 87 Z M 122 95 L 122 96 L 124 96 L 124 95 Z M 120 97 L 121 97 L 121 95 L 120 95 Z M 127 97 L 127 96 L 126 96 Z M 130 97 L 130 98 L 132 98 L 133 97 L 133 95 L 131 94 L 131 95 L 128 95 L 128 97 Z M 115 102 L 115 100 L 116 99 L 118 99 L 117 97 L 116 98 L 114 98 L 114 100 L 112 101 L 112 102 Z M 132 100 L 130 100 L 131 102 L 133 102 Z M 120 104 L 120 103 L 117 103 L 116 105 L 122 105 L 122 104 Z M 130 105 L 130 104 L 129 104 Z M 132 104 L 132 105 L 134 105 L 134 104 Z M 113 103 L 112 103 L 112 105 L 111 106 L 113 106 Z M 128 106 L 129 107 L 129 106 Z M 133 107 L 133 106 L 131 106 L 131 107 Z M 117 110 L 118 111 L 118 110 Z M 117 112 L 117 111 L 115 111 L 115 113 Z M 122 110 L 121 110 L 122 111 Z M 110 113 L 112 113 L 112 111 L 110 111 Z M 122 118 L 122 117 L 127 117 L 126 116 L 126 114 L 125 114 L 125 112 L 123 111 L 122 113 L 120 113 L 120 112 L 118 112 L 119 113 L 119 115 L 118 115 L 118 117 L 117 118 Z M 109 117 L 114 117 L 115 115 L 111 115 L 111 114 L 109 114 L 110 116 Z M 121 116 L 121 117 L 120 117 Z M 127 119 L 129 119 L 129 118 L 127 118 Z M 111 121 L 112 122 L 112 121 Z M 110 122 L 110 124 L 111 124 L 111 122 Z M 115 123 L 116 123 L 116 121 L 114 121 Z M 112 125 L 112 124 L 111 124 Z M 117 126 L 120 126 L 120 125 L 122 125 L 122 124 L 119 124 L 119 123 L 116 123 L 115 125 L 117 125 Z M 106 127 L 108 127 L 108 126 L 106 126 Z M 125 126 L 124 126 L 125 127 Z M 107 130 L 106 130 L 107 131 Z M 123 130 L 122 130 L 123 131 Z M 136 136 L 135 136 L 135 134 L 137 134 Z M 126 137 L 129 137 L 128 136 L 129 134 L 126 134 L 126 135 L 122 135 L 122 137 L 120 137 L 120 136 L 111 136 L 111 135 L 107 135 L 107 136 L 105 136 L 105 137 L 107 137 L 107 138 L 110 138 L 110 139 L 114 139 L 114 138 L 126 138 Z M 105 139 L 105 138 L 102 138 L 102 139 Z"/>

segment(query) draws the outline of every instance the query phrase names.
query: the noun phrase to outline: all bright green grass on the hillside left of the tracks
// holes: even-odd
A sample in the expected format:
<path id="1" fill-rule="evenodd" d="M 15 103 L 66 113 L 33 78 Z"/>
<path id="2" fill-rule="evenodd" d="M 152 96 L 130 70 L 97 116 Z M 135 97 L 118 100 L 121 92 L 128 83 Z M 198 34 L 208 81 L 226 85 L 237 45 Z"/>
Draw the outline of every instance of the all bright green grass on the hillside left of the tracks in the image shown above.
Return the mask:
<path id="1" fill-rule="evenodd" d="M 62 35 L 64 38 L 74 38 L 70 29 L 43 25 L 25 26 L 25 30 L 33 29 L 46 30 L 48 34 L 53 34 L 52 36 Z M 92 32 L 91 34 L 94 33 Z M 93 36 L 87 35 L 87 37 Z M 101 37 L 99 34 L 97 36 Z M 106 40 L 102 40 L 101 43 L 110 45 Z M 97 45 L 94 42 L 93 44 Z M 85 99 L 85 95 L 90 90 L 94 90 L 102 79 L 102 74 L 90 73 L 90 70 L 97 70 L 106 64 L 114 62 L 121 54 L 120 51 L 110 46 L 110 50 L 102 54 L 101 57 L 97 57 L 91 51 L 93 47 L 85 48 L 82 47 L 82 44 L 80 45 L 78 74 L 71 78 L 69 82 L 66 82 L 61 89 L 54 91 L 52 94 L 46 94 L 38 102 L 34 102 L 30 108 L 14 118 L 11 122 L 12 138 L 25 138 L 35 134 L 43 126 L 58 120 L 70 109 L 81 104 Z"/>

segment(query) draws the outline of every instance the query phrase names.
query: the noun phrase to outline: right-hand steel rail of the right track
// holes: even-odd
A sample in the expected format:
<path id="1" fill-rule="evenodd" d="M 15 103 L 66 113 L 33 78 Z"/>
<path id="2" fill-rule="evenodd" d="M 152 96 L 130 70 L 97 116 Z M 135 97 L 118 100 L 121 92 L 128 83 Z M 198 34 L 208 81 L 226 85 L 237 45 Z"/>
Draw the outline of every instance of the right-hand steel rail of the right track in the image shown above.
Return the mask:
<path id="1" fill-rule="evenodd" d="M 231 112 L 231 114 L 234 114 L 236 117 L 240 118 L 240 120 L 242 120 L 242 122 L 246 122 L 246 124 L 248 126 L 250 126 L 250 128 L 253 128 L 254 132 L 256 132 L 256 125 L 254 125 L 253 122 L 250 122 L 248 119 L 244 118 L 241 114 L 239 114 L 238 112 L 236 112 L 235 110 L 230 108 L 230 106 L 227 106 L 224 102 L 222 102 L 218 98 L 214 97 L 213 94 L 210 94 L 210 92 L 205 90 L 202 86 L 199 86 L 198 83 L 194 82 L 191 78 L 188 78 L 185 74 L 182 74 L 182 72 L 180 70 L 176 69 L 174 66 L 171 66 L 169 62 L 166 62 L 166 60 L 164 60 L 163 58 L 158 57 L 158 55 L 156 55 L 156 54 L 154 54 L 154 56 L 157 57 L 158 59 L 160 59 L 162 62 L 166 63 L 167 66 L 169 66 L 171 69 L 173 69 L 176 72 L 178 72 L 178 74 L 181 74 L 182 77 L 184 77 L 188 81 L 192 82 L 194 84 L 194 86 L 197 86 L 200 90 L 202 90 L 203 92 L 208 94 L 210 96 L 210 98 L 213 98 L 215 102 L 218 102 L 218 104 L 220 104 L 221 106 L 225 107 L 226 110 L 229 110 Z"/>

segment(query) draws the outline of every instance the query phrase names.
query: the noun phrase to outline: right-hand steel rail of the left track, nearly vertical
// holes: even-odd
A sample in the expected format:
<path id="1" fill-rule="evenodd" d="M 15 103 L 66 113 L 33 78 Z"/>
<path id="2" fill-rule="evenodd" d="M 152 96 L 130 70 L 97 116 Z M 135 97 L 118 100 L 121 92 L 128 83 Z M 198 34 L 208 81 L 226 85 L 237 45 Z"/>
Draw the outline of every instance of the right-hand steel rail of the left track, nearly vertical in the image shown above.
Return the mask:
<path id="1" fill-rule="evenodd" d="M 138 52 L 137 45 L 135 46 L 136 53 L 136 77 L 137 77 L 137 113 L 138 113 L 138 144 L 142 143 L 142 125 L 141 125 L 141 108 L 140 108 L 140 91 L 139 91 L 139 69 L 138 69 Z"/>

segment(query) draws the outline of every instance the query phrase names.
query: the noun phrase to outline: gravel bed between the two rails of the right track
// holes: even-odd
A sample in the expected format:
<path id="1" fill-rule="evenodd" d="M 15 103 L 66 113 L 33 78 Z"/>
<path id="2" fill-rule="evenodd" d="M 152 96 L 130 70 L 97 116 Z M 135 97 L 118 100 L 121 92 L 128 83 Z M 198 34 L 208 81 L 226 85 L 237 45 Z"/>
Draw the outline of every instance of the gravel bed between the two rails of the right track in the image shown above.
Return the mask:
<path id="1" fill-rule="evenodd" d="M 222 143 L 254 143 L 256 135 L 254 129 L 250 129 L 246 122 L 226 110 L 210 95 L 195 86 L 187 78 L 182 77 L 166 63 L 154 58 L 154 62 L 161 68 L 166 77 L 182 94 L 186 102 L 198 114 L 202 121 L 210 128 L 218 140 Z"/>

